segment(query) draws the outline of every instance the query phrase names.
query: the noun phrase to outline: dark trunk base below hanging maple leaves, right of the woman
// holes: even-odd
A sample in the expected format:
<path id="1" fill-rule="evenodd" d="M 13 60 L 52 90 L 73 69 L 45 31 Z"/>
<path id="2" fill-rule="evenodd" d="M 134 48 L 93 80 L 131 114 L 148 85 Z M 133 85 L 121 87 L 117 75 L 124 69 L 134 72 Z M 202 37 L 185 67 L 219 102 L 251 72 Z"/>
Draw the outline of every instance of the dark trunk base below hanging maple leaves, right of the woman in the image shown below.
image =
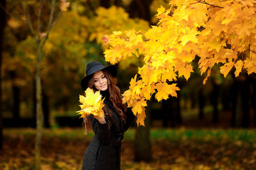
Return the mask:
<path id="1" fill-rule="evenodd" d="M 150 143 L 150 109 L 146 109 L 145 126 L 139 126 L 135 134 L 135 162 L 150 162 L 152 159 Z"/>

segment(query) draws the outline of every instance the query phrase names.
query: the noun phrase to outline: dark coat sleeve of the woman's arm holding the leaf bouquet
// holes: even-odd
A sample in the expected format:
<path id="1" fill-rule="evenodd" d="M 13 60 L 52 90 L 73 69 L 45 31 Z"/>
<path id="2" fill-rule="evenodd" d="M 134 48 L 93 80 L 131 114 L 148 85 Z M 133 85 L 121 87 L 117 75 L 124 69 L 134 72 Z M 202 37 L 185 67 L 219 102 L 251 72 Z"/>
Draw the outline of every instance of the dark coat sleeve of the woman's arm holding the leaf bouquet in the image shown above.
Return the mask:
<path id="1" fill-rule="evenodd" d="M 105 124 L 101 124 L 96 118 L 91 116 L 89 117 L 89 121 L 100 143 L 102 145 L 108 145 L 110 143 L 109 121 L 106 120 Z"/>

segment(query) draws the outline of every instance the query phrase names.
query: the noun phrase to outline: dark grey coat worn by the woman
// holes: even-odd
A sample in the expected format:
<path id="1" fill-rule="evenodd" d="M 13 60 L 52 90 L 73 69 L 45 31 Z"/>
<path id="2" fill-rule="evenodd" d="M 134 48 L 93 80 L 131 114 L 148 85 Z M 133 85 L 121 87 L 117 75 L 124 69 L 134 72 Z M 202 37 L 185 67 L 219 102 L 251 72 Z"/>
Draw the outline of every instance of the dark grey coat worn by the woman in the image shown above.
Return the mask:
<path id="1" fill-rule="evenodd" d="M 113 106 L 108 101 L 104 101 L 104 104 L 112 112 L 112 125 L 109 129 L 108 121 L 105 124 L 101 124 L 96 118 L 89 117 L 95 136 L 84 154 L 82 170 L 120 169 L 123 133 L 133 123 L 135 116 L 131 112 L 131 109 L 127 109 L 126 124 L 124 124 L 121 116 Z"/>

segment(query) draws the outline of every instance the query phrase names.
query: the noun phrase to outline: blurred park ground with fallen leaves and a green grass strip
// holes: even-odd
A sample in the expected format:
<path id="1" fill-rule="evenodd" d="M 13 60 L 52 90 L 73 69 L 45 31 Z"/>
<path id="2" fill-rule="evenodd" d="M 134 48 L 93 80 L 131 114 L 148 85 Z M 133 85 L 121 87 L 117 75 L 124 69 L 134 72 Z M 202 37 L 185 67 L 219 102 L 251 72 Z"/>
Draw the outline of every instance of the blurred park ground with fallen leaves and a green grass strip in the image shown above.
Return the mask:
<path id="1" fill-rule="evenodd" d="M 35 129 L 4 129 L 0 169 L 35 169 Z M 134 162 L 135 128 L 122 142 L 121 169 L 256 169 L 255 129 L 152 129 L 152 161 Z M 42 169 L 81 169 L 93 133 L 44 129 Z"/>

